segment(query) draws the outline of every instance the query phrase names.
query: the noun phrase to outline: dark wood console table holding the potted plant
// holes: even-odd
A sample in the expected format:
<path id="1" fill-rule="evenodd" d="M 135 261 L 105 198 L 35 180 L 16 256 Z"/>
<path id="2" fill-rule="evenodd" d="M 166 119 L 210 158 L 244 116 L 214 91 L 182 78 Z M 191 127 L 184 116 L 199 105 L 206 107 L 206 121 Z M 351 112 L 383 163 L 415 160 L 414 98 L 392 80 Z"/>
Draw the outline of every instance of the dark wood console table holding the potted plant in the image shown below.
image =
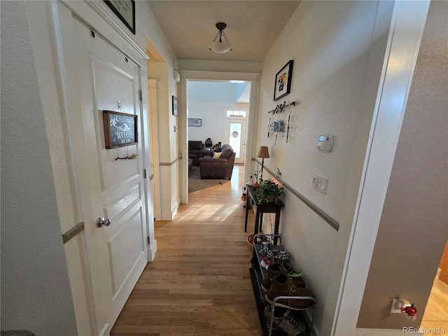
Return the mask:
<path id="1" fill-rule="evenodd" d="M 246 221 L 244 222 L 244 232 L 247 231 L 247 218 L 248 218 L 248 211 L 251 204 L 249 202 L 252 202 L 252 204 L 255 204 L 257 206 L 257 211 L 255 213 L 255 228 L 253 230 L 253 235 L 256 235 L 258 231 L 261 231 L 262 229 L 262 216 L 261 214 L 275 214 L 275 225 L 274 225 L 274 235 L 279 234 L 279 224 L 280 224 L 280 210 L 281 207 L 283 207 L 283 202 L 279 199 L 279 197 L 276 198 L 275 202 L 268 203 L 268 204 L 258 204 L 257 197 L 255 197 L 255 190 L 253 189 L 253 186 L 246 185 L 247 188 L 247 199 L 246 199 Z M 276 240 L 276 238 L 275 238 Z M 274 244 L 276 244 L 276 241 L 274 241 Z"/>

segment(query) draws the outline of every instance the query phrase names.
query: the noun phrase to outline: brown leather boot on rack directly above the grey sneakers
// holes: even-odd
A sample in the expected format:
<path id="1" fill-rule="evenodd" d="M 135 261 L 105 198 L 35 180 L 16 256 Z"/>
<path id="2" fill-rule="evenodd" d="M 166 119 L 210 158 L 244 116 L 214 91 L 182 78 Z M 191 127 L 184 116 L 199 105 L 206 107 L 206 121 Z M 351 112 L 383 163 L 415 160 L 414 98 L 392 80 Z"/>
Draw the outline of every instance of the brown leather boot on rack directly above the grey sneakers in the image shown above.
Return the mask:
<path id="1" fill-rule="evenodd" d="M 276 274 L 272 277 L 272 285 L 267 291 L 266 301 L 273 304 L 273 300 L 278 296 L 309 296 L 314 294 L 308 288 L 300 288 L 295 286 L 286 274 Z M 276 306 L 289 309 L 305 309 L 311 307 L 314 300 L 311 299 L 280 299 L 276 301 Z"/>

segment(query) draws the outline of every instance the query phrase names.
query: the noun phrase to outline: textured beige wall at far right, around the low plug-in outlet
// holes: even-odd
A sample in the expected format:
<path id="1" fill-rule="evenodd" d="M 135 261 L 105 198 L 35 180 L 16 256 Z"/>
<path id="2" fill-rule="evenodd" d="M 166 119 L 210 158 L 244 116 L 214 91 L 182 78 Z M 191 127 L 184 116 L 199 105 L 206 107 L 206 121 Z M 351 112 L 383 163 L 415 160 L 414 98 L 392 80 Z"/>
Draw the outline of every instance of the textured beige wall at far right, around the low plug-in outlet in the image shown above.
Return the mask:
<path id="1" fill-rule="evenodd" d="M 419 328 L 447 241 L 447 33 L 448 3 L 431 1 L 358 328 Z M 395 297 L 415 303 L 416 321 L 387 314 Z"/>

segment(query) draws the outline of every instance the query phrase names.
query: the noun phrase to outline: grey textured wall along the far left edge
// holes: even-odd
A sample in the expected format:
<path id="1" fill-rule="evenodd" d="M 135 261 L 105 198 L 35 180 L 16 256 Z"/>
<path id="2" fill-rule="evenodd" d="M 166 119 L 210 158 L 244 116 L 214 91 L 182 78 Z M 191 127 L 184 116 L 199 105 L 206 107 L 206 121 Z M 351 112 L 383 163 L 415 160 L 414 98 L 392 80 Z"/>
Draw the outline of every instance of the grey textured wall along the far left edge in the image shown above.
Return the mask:
<path id="1" fill-rule="evenodd" d="M 1 330 L 76 335 L 25 2 L 1 22 Z"/>

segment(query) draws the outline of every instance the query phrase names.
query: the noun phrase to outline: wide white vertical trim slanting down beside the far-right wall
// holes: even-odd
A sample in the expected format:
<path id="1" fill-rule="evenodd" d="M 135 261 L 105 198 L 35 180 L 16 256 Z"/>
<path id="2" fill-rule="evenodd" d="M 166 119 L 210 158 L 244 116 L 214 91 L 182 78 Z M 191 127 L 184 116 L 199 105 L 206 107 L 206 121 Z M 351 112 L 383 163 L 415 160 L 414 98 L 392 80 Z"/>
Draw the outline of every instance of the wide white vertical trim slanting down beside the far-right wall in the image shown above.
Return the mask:
<path id="1" fill-rule="evenodd" d="M 398 0 L 394 3 L 386 64 L 381 76 L 367 144 L 332 336 L 349 336 L 356 333 L 356 323 L 429 3 L 429 0 Z"/>

